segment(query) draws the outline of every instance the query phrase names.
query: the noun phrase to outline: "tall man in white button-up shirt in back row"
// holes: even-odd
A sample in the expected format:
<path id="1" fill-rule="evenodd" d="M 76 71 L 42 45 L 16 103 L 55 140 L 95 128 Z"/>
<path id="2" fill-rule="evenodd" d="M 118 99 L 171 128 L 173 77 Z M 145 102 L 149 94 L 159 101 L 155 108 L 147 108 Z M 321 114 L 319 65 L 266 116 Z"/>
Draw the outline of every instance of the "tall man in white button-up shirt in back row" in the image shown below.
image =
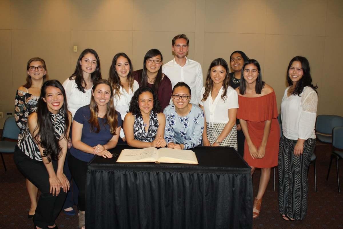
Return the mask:
<path id="1" fill-rule="evenodd" d="M 173 87 L 180 81 L 188 84 L 192 95 L 190 103 L 198 105 L 203 86 L 202 69 L 200 63 L 186 57 L 188 44 L 189 39 L 185 34 L 173 38 L 171 50 L 174 52 L 174 59 L 162 66 L 162 72 L 168 76 Z"/>

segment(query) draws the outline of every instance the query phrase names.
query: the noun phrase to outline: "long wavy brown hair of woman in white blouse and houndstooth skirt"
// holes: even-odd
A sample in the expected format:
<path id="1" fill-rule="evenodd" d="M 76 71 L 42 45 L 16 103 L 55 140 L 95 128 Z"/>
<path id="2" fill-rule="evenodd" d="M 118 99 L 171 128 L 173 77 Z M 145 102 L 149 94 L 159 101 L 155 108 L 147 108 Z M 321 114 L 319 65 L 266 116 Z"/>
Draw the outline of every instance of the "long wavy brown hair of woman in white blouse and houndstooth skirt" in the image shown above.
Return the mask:
<path id="1" fill-rule="evenodd" d="M 206 77 L 206 83 L 205 83 L 205 93 L 203 94 L 203 97 L 201 101 L 205 101 L 210 92 L 212 92 L 213 89 L 213 80 L 211 79 L 211 69 L 216 66 L 222 66 L 226 70 L 225 79 L 223 81 L 223 94 L 222 94 L 222 100 L 225 101 L 227 98 L 227 88 L 230 85 L 230 78 L 229 78 L 229 66 L 227 65 L 227 62 L 223 58 L 217 58 L 212 61 L 210 64 L 209 70 L 207 71 L 207 77 Z"/>

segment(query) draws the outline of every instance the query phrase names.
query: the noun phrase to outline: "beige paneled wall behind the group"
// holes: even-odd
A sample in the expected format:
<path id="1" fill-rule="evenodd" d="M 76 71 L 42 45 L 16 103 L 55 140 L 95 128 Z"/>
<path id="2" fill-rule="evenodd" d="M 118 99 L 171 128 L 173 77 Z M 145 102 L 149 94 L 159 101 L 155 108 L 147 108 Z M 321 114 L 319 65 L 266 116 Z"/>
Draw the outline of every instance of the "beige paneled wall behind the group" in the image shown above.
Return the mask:
<path id="1" fill-rule="evenodd" d="M 318 114 L 342 116 L 342 12 L 342 0 L 0 0 L 0 112 L 13 113 L 32 57 L 45 59 L 50 79 L 63 82 L 81 51 L 93 48 L 107 79 L 116 53 L 127 53 L 135 70 L 151 48 L 168 62 L 171 39 L 185 33 L 188 58 L 204 74 L 213 59 L 229 61 L 234 50 L 257 59 L 279 108 L 288 62 L 307 57 L 319 87 Z"/>

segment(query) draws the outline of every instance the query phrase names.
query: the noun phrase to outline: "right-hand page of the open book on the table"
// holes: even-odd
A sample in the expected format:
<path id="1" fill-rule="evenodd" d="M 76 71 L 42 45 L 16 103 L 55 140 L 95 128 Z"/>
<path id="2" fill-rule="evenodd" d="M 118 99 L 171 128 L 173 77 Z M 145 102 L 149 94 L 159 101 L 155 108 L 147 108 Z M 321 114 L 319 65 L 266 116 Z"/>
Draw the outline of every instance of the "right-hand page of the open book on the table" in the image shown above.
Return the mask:
<path id="1" fill-rule="evenodd" d="M 198 164 L 192 150 L 160 148 L 157 156 L 159 162 Z"/>

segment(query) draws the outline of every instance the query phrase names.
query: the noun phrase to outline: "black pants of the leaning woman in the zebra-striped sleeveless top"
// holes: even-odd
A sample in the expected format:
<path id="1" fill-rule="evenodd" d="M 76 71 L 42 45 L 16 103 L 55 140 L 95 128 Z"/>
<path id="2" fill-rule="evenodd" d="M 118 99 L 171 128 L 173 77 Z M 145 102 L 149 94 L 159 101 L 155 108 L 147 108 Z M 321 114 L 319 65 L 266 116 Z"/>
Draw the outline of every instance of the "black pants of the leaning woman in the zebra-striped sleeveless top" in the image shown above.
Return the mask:
<path id="1" fill-rule="evenodd" d="M 50 193 L 49 174 L 43 161 L 29 158 L 19 148 L 14 152 L 14 163 L 24 176 L 31 181 L 41 192 L 38 204 L 33 217 L 33 222 L 37 227 L 47 228 L 54 226 L 55 219 L 61 212 L 67 193 L 60 190 L 58 196 Z M 52 166 L 57 171 L 57 161 L 52 160 Z"/>

